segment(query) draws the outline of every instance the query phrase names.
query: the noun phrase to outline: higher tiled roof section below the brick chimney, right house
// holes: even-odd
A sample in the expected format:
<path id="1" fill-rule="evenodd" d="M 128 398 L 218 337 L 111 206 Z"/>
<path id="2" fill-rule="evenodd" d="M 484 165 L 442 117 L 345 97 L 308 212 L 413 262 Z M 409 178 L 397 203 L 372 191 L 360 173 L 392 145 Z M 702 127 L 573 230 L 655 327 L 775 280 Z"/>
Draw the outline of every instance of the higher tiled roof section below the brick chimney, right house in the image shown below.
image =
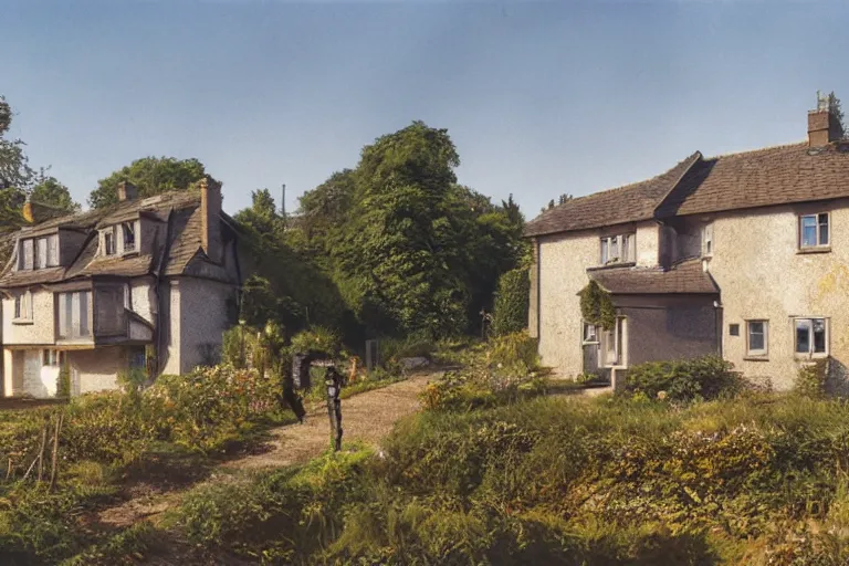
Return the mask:
<path id="1" fill-rule="evenodd" d="M 725 155 L 696 163 L 659 217 L 740 210 L 849 197 L 849 144 L 807 143 Z"/>

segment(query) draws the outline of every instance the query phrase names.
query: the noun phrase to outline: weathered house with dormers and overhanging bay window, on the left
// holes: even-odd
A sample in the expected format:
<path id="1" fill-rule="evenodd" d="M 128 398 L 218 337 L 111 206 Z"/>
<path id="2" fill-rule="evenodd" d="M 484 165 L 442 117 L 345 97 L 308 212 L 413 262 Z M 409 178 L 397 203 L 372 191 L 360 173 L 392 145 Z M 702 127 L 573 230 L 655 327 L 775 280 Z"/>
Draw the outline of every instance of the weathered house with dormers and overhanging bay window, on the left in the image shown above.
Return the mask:
<path id="1" fill-rule="evenodd" d="M 0 272 L 2 395 L 116 387 L 119 373 L 181 374 L 212 363 L 238 312 L 239 231 L 221 185 L 53 218 L 11 235 Z"/>

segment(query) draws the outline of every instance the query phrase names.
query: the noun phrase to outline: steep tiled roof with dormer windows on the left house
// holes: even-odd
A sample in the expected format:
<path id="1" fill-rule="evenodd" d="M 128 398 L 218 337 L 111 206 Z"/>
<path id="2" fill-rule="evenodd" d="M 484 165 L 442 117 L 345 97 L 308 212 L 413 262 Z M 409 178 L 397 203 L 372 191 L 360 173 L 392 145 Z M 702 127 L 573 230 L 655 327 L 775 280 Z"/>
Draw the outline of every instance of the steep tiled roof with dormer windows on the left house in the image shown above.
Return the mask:
<path id="1" fill-rule="evenodd" d="M 119 202 L 104 209 L 54 218 L 40 224 L 24 228 L 20 235 L 45 233 L 57 228 L 76 228 L 90 231 L 90 237 L 74 262 L 65 268 L 34 271 L 13 271 L 11 264 L 0 274 L 0 286 L 14 287 L 93 275 L 138 276 L 151 273 L 158 268 L 165 242 L 155 242 L 153 254 L 120 258 L 97 255 L 96 228 L 129 220 L 137 216 L 155 217 L 167 221 L 171 217 L 170 253 L 165 263 L 165 274 L 186 273 L 189 262 L 201 248 L 200 195 L 192 191 L 166 192 L 146 199 Z M 232 221 L 230 217 L 227 220 Z M 222 222 L 223 226 L 223 222 Z M 165 230 L 161 232 L 165 233 Z M 14 238 L 17 234 L 10 234 Z M 203 255 L 206 258 L 206 255 Z"/>

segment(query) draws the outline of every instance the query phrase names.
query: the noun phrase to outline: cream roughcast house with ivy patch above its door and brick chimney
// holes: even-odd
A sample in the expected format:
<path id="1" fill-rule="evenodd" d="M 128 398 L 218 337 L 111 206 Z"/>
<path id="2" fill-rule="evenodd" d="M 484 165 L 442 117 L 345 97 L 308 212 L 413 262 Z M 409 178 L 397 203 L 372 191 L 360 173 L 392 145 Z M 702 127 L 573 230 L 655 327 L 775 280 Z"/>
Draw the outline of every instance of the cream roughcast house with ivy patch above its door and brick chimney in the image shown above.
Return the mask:
<path id="1" fill-rule="evenodd" d="M 562 375 L 616 380 L 636 364 L 720 354 L 793 387 L 798 369 L 849 363 L 849 142 L 827 99 L 808 139 L 719 157 L 546 210 L 526 227 L 530 332 Z M 616 324 L 581 319 L 595 281 Z"/>

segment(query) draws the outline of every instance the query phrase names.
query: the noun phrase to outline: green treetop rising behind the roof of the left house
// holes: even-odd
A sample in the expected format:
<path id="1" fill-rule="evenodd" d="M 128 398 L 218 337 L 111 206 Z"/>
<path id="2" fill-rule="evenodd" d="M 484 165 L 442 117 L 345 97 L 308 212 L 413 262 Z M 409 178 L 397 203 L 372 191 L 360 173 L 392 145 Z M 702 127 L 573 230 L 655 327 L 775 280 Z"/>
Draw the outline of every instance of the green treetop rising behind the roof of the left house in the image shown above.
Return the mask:
<path id="1" fill-rule="evenodd" d="M 199 160 L 174 157 L 143 157 L 97 181 L 97 188 L 88 196 L 92 208 L 103 208 L 117 202 L 120 181 L 136 186 L 139 197 L 151 197 L 170 190 L 189 190 L 206 170 Z"/>

